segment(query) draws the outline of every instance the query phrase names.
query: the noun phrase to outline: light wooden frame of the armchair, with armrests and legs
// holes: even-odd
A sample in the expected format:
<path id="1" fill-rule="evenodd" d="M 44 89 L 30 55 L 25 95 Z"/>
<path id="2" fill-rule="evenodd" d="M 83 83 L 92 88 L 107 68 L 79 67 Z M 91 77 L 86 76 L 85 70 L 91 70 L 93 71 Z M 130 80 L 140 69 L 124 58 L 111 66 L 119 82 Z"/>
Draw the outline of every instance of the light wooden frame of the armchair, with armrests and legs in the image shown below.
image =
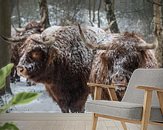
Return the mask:
<path id="1" fill-rule="evenodd" d="M 106 89 L 108 89 L 108 93 L 111 97 L 111 100 L 117 101 L 117 96 L 115 93 L 115 87 L 113 85 L 96 84 L 96 83 L 87 83 L 87 85 L 89 87 L 95 87 L 94 100 L 99 100 L 101 97 L 102 88 L 106 88 Z M 163 123 L 151 122 L 149 120 L 150 119 L 150 112 L 151 112 L 152 93 L 154 91 L 157 92 L 161 112 L 163 114 L 163 89 L 158 88 L 158 87 L 151 87 L 151 86 L 137 86 L 136 88 L 145 91 L 143 113 L 142 113 L 142 119 L 140 121 L 128 120 L 128 119 L 124 119 L 124 118 L 112 117 L 112 116 L 93 113 L 92 130 L 96 130 L 98 117 L 118 120 L 121 122 L 124 130 L 127 130 L 127 126 L 125 123 L 141 124 L 141 130 L 147 130 L 148 124 L 163 126 Z"/>

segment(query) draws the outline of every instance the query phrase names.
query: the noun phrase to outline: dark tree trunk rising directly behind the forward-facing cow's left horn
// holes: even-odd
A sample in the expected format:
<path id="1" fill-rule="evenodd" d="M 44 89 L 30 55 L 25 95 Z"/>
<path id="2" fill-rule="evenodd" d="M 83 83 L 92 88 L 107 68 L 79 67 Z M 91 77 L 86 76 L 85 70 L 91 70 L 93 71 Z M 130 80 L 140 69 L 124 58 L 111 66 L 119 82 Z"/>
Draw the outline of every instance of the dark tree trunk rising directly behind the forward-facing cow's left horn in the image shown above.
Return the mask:
<path id="1" fill-rule="evenodd" d="M 119 33 L 120 31 L 114 14 L 114 0 L 113 2 L 111 0 L 105 0 L 105 9 L 107 11 L 108 24 L 114 21 L 112 26 L 110 26 L 110 31 L 112 33 Z"/>

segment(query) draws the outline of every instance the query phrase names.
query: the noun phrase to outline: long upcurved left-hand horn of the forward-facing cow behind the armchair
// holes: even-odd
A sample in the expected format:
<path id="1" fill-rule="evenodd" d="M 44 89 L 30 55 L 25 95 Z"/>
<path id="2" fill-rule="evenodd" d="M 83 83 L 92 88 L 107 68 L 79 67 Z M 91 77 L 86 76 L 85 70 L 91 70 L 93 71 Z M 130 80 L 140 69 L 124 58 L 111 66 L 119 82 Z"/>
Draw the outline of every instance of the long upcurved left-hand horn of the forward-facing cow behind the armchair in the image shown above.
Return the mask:
<path id="1" fill-rule="evenodd" d="M 80 33 L 80 38 L 81 40 L 85 43 L 85 45 L 88 47 L 88 48 L 91 48 L 91 49 L 100 49 L 100 50 L 106 50 L 108 48 L 108 45 L 107 44 L 93 44 L 91 43 L 89 40 L 87 40 L 84 36 L 84 33 L 80 27 L 80 25 L 78 24 L 78 28 L 79 28 L 79 33 Z"/>

